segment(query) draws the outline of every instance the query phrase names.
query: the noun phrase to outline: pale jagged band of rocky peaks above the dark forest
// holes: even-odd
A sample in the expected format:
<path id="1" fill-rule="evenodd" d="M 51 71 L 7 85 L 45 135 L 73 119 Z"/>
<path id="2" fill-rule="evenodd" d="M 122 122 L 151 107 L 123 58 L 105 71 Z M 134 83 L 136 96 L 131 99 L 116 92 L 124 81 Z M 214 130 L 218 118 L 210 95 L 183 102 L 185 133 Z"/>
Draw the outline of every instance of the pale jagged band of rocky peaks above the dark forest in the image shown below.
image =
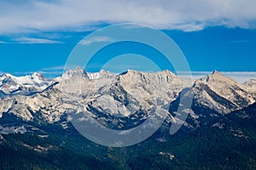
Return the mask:
<path id="1" fill-rule="evenodd" d="M 0 116 L 8 113 L 26 121 L 63 122 L 62 116 L 76 111 L 103 116 L 102 122 L 109 122 L 113 116 L 146 119 L 160 106 L 170 111 L 172 122 L 179 94 L 184 92 L 185 97 L 193 96 L 191 108 L 186 108 L 186 123 L 199 127 L 207 122 L 206 117 L 253 104 L 256 93 L 252 84 L 240 84 L 218 71 L 195 82 L 171 71 L 128 70 L 113 75 L 108 71 L 88 73 L 79 67 L 53 80 L 38 73 L 26 77 L 4 74 L 0 77 Z"/>

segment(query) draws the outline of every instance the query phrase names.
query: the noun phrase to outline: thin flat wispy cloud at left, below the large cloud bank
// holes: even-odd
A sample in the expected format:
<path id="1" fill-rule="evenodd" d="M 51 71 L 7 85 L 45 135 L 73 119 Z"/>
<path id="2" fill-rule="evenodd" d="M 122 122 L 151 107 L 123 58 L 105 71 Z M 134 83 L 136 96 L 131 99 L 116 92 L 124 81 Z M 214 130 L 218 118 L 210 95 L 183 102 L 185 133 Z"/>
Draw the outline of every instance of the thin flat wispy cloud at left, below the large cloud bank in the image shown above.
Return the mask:
<path id="1" fill-rule="evenodd" d="M 49 40 L 44 38 L 33 38 L 33 37 L 19 37 L 13 39 L 14 42 L 18 43 L 61 43 L 60 41 L 56 40 Z"/>

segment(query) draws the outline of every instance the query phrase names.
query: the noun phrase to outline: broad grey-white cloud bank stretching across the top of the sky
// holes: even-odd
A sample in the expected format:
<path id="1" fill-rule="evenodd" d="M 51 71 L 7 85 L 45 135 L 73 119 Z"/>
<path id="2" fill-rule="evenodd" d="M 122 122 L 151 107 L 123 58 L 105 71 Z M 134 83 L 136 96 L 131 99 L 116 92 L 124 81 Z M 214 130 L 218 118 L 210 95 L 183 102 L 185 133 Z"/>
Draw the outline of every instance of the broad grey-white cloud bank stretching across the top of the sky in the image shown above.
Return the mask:
<path id="1" fill-rule="evenodd" d="M 1 1 L 0 34 L 95 29 L 99 23 L 136 22 L 160 29 L 206 26 L 256 28 L 255 0 Z"/>

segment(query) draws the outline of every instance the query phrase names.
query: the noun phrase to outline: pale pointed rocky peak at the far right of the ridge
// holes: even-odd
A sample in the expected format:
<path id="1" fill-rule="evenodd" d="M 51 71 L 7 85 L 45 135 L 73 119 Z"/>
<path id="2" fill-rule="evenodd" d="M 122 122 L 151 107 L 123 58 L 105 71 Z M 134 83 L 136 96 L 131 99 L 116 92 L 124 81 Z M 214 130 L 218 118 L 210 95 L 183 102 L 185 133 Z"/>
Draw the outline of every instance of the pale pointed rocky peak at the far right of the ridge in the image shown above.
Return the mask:
<path id="1" fill-rule="evenodd" d="M 253 104 L 255 94 L 246 86 L 224 77 L 218 71 L 197 81 L 190 93 L 195 94 L 196 103 L 218 113 L 228 113 Z"/>

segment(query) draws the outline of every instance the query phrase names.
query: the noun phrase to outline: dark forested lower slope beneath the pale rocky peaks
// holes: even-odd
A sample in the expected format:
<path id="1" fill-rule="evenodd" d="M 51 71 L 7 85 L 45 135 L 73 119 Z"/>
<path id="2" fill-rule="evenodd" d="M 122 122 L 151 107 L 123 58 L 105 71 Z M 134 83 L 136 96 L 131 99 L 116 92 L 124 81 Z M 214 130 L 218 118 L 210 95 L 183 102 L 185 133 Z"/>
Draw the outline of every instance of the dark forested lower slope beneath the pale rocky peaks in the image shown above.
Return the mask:
<path id="1" fill-rule="evenodd" d="M 159 130 L 142 143 L 125 148 L 94 144 L 73 127 L 37 125 L 44 130 L 1 135 L 0 165 L 45 169 L 255 169 L 255 109 L 254 104 L 231 112 L 185 135 L 163 135 Z M 251 118 L 242 118 L 244 114 Z M 250 120 L 245 122 L 248 127 L 241 124 L 244 120 Z"/>

